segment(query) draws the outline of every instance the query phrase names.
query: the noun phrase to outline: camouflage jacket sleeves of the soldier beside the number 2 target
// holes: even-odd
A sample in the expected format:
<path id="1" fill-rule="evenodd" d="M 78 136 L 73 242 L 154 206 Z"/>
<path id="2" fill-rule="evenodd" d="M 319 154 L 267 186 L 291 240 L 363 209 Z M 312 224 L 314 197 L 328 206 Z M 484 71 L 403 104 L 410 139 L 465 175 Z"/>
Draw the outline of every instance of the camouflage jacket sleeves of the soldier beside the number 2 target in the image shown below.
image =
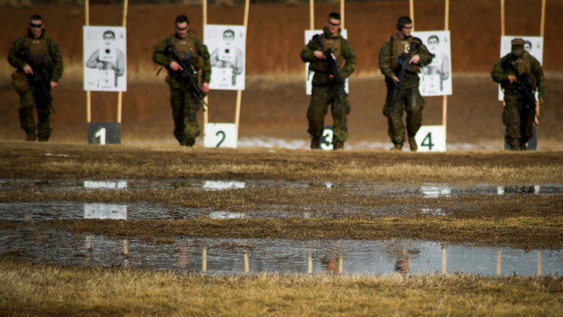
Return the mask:
<path id="1" fill-rule="evenodd" d="M 175 36 L 176 35 L 170 35 L 170 37 L 167 37 L 162 41 L 160 41 L 160 43 L 158 43 L 153 53 L 153 61 L 160 66 L 164 66 L 168 70 L 171 80 L 179 80 L 179 73 L 170 70 L 170 63 L 172 61 L 176 61 L 176 58 L 174 57 L 172 51 L 170 50 L 170 45 L 172 44 L 172 40 L 174 39 Z M 191 32 L 188 32 L 188 37 L 186 37 L 186 41 L 194 42 L 194 46 L 196 48 L 195 53 L 199 57 L 201 57 L 201 60 L 203 61 L 202 63 L 203 65 L 201 65 L 201 67 L 199 66 L 198 67 L 194 66 L 194 67 L 198 70 L 201 70 L 201 75 L 202 75 L 201 80 L 203 82 L 209 82 L 211 80 L 211 62 L 210 62 L 210 55 L 207 46 L 205 46 L 205 44 L 203 44 L 203 42 L 201 42 L 199 39 L 196 39 L 196 37 L 194 37 L 194 35 L 192 35 Z"/>

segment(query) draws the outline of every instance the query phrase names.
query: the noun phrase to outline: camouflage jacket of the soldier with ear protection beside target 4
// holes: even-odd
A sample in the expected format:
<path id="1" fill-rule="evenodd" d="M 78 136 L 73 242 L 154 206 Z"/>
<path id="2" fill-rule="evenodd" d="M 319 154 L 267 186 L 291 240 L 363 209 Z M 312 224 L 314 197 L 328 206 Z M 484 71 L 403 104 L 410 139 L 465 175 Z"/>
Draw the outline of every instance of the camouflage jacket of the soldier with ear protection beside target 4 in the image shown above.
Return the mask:
<path id="1" fill-rule="evenodd" d="M 393 63 L 393 61 L 395 61 L 395 59 L 399 56 L 393 56 L 393 44 L 394 41 L 400 40 L 400 34 L 397 33 L 396 35 L 391 36 L 391 38 L 389 38 L 383 46 L 381 46 L 381 49 L 379 49 L 379 70 L 381 70 L 381 73 L 385 75 L 385 80 L 388 85 L 393 85 L 391 77 L 398 75 L 397 70 L 394 69 L 395 63 Z M 421 39 L 418 37 L 407 37 L 403 40 L 417 42 L 419 45 L 418 48 L 412 52 L 412 56 L 418 55 L 420 58 L 419 63 L 415 64 L 419 66 L 417 69 L 419 69 L 420 66 L 426 66 L 432 62 L 433 56 L 428 49 L 426 49 L 426 46 L 422 43 Z M 419 77 L 417 73 L 418 71 L 407 70 L 405 77 L 403 78 L 405 88 L 418 87 Z"/>

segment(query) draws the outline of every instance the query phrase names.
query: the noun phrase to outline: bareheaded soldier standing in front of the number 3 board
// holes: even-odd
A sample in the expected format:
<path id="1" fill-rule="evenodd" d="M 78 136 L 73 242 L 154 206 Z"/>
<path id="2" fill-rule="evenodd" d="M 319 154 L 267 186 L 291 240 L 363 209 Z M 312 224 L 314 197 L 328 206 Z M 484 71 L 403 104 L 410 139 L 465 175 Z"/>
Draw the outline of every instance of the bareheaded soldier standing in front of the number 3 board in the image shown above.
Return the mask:
<path id="1" fill-rule="evenodd" d="M 340 20 L 339 13 L 330 13 L 327 26 L 322 29 L 323 34 L 320 35 L 320 39 L 327 51 L 332 50 L 338 65 L 338 73 L 342 80 L 346 80 L 354 73 L 356 56 L 350 43 L 340 35 Z M 346 92 L 336 81 L 335 75 L 331 73 L 327 57 L 316 39 L 310 40 L 301 51 L 301 60 L 305 63 L 310 62 L 309 70 L 315 72 L 312 77 L 311 101 L 307 111 L 308 132 L 312 137 L 311 149 L 320 149 L 324 116 L 327 115 L 329 104 L 331 104 L 334 120 L 332 144 L 334 149 L 343 149 L 344 142 L 348 138 L 346 116 L 350 113 Z"/>

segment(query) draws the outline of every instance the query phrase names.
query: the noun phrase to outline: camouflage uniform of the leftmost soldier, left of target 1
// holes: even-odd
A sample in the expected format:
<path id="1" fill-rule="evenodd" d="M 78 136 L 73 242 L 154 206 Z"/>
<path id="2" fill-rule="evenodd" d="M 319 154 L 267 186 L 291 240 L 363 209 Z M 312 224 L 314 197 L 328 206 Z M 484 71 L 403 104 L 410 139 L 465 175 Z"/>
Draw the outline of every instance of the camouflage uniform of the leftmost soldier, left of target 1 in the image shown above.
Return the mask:
<path id="1" fill-rule="evenodd" d="M 15 91 L 20 94 L 20 125 L 27 134 L 28 141 L 34 141 L 37 133 L 39 141 L 47 141 L 53 132 L 51 129 L 51 116 L 52 98 L 49 101 L 44 101 L 38 98 L 39 87 L 30 85 L 32 81 L 28 80 L 29 77 L 23 72 L 23 68 L 30 65 L 27 58 L 26 48 L 29 48 L 33 62 L 36 66 L 42 66 L 46 70 L 49 80 L 58 82 L 63 75 L 63 57 L 61 51 L 58 49 L 57 44 L 45 37 L 45 30 L 42 35 L 34 39 L 30 31 L 26 36 L 19 37 L 13 42 L 12 48 L 8 53 L 8 62 L 11 66 L 18 70 L 13 73 L 13 86 Z M 31 66 L 31 65 L 30 65 Z M 49 95 L 51 95 L 51 85 L 49 86 Z M 33 109 L 37 107 L 37 128 L 35 125 L 35 115 Z"/>

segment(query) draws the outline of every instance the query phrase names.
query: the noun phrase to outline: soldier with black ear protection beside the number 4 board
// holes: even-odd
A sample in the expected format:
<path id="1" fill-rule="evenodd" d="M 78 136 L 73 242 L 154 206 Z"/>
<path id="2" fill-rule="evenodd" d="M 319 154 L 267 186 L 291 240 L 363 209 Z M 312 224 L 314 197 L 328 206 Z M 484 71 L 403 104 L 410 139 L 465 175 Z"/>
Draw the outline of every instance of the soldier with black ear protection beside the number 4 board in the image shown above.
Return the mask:
<path id="1" fill-rule="evenodd" d="M 432 54 L 418 37 L 412 37 L 412 20 L 401 16 L 397 21 L 397 34 L 392 35 L 379 51 L 379 69 L 385 75 L 387 98 L 383 114 L 388 121 L 388 135 L 394 147 L 391 151 L 401 151 L 405 142 L 405 126 L 403 125 L 403 111 L 407 112 L 407 134 L 411 151 L 417 151 L 415 135 L 422 125 L 422 108 L 424 99 L 418 90 L 420 67 L 432 61 Z M 410 52 L 410 46 L 416 44 L 416 49 Z M 399 80 L 400 59 L 411 53 L 408 60 L 409 67 L 405 76 Z M 396 85 L 403 84 L 403 89 L 396 94 Z"/>

